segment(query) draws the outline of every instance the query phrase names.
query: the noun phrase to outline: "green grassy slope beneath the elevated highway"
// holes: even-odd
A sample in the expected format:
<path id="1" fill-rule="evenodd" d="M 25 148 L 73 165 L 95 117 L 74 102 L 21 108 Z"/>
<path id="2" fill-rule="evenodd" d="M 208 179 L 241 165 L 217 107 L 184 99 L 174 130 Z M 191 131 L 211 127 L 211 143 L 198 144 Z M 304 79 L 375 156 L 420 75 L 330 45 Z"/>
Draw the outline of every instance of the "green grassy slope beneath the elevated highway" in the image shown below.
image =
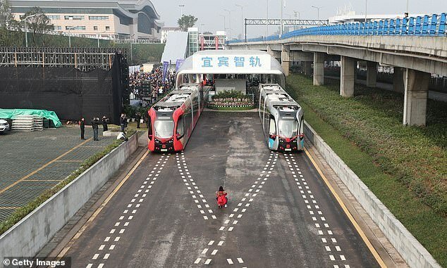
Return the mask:
<path id="1" fill-rule="evenodd" d="M 427 127 L 402 125 L 403 96 L 288 77 L 305 119 L 443 267 L 447 267 L 447 103 L 427 103 Z"/>

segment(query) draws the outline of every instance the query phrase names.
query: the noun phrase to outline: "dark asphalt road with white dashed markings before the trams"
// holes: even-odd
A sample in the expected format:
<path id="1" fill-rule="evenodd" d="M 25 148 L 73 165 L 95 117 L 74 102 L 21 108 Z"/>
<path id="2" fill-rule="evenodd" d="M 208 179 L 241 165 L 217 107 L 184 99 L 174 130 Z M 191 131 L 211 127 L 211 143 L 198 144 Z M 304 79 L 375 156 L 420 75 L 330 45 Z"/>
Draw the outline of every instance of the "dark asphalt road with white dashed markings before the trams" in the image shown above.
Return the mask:
<path id="1" fill-rule="evenodd" d="M 183 153 L 149 154 L 66 256 L 73 267 L 378 267 L 305 153 L 267 149 L 257 113 L 206 112 Z"/>

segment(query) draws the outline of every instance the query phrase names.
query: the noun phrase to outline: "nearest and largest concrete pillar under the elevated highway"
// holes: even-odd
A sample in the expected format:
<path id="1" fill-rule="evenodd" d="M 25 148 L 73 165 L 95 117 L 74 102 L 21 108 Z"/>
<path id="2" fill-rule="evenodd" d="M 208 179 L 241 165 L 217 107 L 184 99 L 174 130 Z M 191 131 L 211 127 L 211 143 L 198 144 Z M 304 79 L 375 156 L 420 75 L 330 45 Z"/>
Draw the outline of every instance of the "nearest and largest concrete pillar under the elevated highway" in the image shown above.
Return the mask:
<path id="1" fill-rule="evenodd" d="M 429 82 L 428 72 L 405 70 L 403 125 L 425 126 Z"/>

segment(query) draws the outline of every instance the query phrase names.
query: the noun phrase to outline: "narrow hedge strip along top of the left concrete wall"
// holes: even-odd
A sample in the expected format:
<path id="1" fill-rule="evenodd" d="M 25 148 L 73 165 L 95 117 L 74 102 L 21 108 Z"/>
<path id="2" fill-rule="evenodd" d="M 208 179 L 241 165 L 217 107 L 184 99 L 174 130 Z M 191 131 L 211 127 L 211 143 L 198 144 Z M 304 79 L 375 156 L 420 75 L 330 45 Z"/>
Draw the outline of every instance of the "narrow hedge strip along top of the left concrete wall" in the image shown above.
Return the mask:
<path id="1" fill-rule="evenodd" d="M 126 135 L 130 137 L 133 134 L 135 134 L 135 131 L 130 130 L 127 132 Z M 26 215 L 30 214 L 30 212 L 39 207 L 39 205 L 42 205 L 42 203 L 51 198 L 51 196 L 54 196 L 57 192 L 63 189 L 63 187 L 76 179 L 80 174 L 82 174 L 82 172 L 85 172 L 85 170 L 91 167 L 95 162 L 98 162 L 101 158 L 110 153 L 121 143 L 123 143 L 122 140 L 114 140 L 111 144 L 109 144 L 109 146 L 106 146 L 103 151 L 92 155 L 90 158 L 82 162 L 78 170 L 75 170 L 68 177 L 63 179 L 63 181 L 59 182 L 59 184 L 56 184 L 56 186 L 45 191 L 44 193 L 42 193 L 42 195 L 35 198 L 35 200 L 32 200 L 30 203 L 27 203 L 27 205 L 13 212 L 13 214 L 11 214 L 8 219 L 0 222 L 0 235 L 3 234 L 5 231 L 8 231 L 8 229 L 14 226 L 14 224 L 18 223 L 20 219 L 23 219 Z"/>

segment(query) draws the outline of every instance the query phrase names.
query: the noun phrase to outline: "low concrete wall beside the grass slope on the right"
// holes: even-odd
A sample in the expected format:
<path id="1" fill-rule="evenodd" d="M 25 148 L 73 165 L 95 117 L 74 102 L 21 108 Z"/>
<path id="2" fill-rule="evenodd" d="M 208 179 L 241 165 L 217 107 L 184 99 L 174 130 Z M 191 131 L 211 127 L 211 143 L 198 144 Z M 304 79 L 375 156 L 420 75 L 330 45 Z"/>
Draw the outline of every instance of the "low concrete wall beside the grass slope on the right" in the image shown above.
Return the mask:
<path id="1" fill-rule="evenodd" d="M 390 243 L 398 250 L 410 267 L 436 267 L 441 266 L 433 256 L 410 234 L 396 217 L 381 203 L 372 191 L 350 170 L 348 165 L 332 151 L 310 125 L 305 122 L 305 136 L 317 148 L 324 160 L 331 166 L 357 201 L 367 211 L 372 220 L 379 226 Z"/>

